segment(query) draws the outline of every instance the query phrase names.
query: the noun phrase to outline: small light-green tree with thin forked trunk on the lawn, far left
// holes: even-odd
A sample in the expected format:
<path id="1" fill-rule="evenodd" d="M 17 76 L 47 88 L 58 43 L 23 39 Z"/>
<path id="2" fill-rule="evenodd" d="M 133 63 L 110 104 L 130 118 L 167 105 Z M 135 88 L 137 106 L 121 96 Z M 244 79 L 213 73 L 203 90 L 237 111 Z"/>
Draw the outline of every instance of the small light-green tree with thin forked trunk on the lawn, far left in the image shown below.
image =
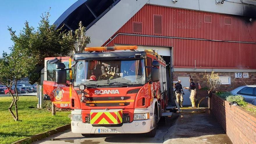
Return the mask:
<path id="1" fill-rule="evenodd" d="M 9 30 L 12 31 L 11 28 Z M 12 96 L 12 102 L 8 110 L 15 121 L 19 120 L 17 81 L 28 77 L 28 74 L 33 71 L 35 64 L 35 58 L 27 53 L 27 50 L 19 47 L 19 45 L 14 45 L 11 48 L 10 54 L 3 53 L 3 58 L 0 59 L 0 83 L 8 88 Z M 12 86 L 15 86 L 15 95 L 11 93 Z M 15 114 L 12 111 L 13 105 L 15 106 Z"/>

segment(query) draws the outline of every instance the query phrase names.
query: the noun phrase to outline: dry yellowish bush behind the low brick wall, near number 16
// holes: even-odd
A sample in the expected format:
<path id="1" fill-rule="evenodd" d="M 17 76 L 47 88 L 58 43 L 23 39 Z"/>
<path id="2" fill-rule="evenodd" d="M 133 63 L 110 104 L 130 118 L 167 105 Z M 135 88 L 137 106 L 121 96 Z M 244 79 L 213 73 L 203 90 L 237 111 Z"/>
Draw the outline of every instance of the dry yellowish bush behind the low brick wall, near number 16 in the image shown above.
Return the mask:
<path id="1" fill-rule="evenodd" d="M 206 79 L 208 88 L 211 90 L 211 92 L 216 92 L 221 86 L 219 74 L 214 74 L 214 71 L 212 71 L 210 75 L 204 75 L 204 79 Z"/>

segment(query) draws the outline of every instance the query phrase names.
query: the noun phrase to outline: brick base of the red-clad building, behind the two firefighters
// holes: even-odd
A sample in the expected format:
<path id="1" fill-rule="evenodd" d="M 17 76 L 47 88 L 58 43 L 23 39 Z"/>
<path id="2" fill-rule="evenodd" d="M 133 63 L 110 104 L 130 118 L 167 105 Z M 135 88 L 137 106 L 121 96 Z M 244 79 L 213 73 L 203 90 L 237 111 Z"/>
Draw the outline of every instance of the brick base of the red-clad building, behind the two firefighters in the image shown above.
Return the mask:
<path id="1" fill-rule="evenodd" d="M 230 85 L 221 85 L 221 91 L 231 91 L 234 88 L 239 86 L 244 86 L 245 83 L 247 85 L 255 85 L 256 84 L 256 73 L 249 73 L 249 78 L 235 78 L 234 72 L 218 72 L 219 76 L 230 76 L 231 84 Z M 173 72 L 172 80 L 178 81 L 178 77 L 191 77 L 195 82 L 197 89 L 198 83 L 200 83 L 201 87 L 207 87 L 207 83 L 203 78 L 205 74 L 210 74 L 210 72 Z M 172 83 L 173 83 L 172 81 Z"/>

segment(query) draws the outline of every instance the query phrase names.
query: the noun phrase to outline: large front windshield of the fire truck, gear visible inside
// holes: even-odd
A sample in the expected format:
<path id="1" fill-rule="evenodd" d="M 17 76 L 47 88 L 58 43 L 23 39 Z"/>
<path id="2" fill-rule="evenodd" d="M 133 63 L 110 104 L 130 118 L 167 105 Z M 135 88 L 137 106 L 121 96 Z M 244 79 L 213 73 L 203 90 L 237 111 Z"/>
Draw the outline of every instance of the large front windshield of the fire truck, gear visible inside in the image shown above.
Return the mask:
<path id="1" fill-rule="evenodd" d="M 78 61 L 74 86 L 80 84 L 113 86 L 145 84 L 143 60 Z"/>

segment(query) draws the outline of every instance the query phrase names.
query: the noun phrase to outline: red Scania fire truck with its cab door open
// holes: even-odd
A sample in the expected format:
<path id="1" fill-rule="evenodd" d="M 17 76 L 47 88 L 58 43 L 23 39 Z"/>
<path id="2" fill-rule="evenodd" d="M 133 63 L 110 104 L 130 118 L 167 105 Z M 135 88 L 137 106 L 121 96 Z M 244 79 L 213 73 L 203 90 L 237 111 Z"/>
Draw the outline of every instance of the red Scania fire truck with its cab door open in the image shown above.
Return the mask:
<path id="1" fill-rule="evenodd" d="M 73 133 L 146 133 L 166 111 L 165 61 L 137 46 L 91 47 L 74 58 L 45 58 L 44 100 L 71 112 Z"/>

